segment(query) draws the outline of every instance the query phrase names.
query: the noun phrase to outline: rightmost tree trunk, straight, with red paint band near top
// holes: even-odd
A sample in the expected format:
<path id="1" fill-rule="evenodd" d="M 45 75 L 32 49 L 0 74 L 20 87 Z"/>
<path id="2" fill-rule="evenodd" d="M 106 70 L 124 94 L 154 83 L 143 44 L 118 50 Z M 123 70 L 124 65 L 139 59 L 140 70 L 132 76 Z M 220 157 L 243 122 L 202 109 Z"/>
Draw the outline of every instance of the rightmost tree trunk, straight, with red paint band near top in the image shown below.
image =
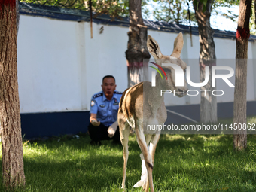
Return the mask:
<path id="1" fill-rule="evenodd" d="M 247 54 L 250 37 L 249 21 L 251 0 L 241 0 L 236 30 L 236 82 L 233 123 L 247 123 L 246 91 L 247 91 Z M 233 131 L 233 148 L 240 151 L 247 147 L 247 130 Z"/>

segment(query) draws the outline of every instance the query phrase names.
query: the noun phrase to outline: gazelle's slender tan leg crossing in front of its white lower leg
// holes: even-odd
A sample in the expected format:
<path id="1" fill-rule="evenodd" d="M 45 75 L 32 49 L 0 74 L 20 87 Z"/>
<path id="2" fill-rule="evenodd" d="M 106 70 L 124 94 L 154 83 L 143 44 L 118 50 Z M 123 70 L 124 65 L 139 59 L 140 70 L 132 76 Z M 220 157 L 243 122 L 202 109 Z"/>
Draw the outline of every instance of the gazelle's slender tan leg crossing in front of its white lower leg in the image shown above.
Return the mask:
<path id="1" fill-rule="evenodd" d="M 153 164 L 151 155 L 149 154 L 147 143 L 145 141 L 145 136 L 142 131 L 142 127 L 138 127 L 136 130 L 136 139 L 139 144 L 139 148 L 142 150 L 142 154 L 145 160 L 145 166 L 148 171 L 148 181 L 149 186 L 151 187 L 151 192 L 154 192 L 154 186 L 153 186 L 153 178 L 152 178 L 152 171 L 153 171 Z M 146 184 L 145 191 L 148 192 L 148 184 Z"/>

